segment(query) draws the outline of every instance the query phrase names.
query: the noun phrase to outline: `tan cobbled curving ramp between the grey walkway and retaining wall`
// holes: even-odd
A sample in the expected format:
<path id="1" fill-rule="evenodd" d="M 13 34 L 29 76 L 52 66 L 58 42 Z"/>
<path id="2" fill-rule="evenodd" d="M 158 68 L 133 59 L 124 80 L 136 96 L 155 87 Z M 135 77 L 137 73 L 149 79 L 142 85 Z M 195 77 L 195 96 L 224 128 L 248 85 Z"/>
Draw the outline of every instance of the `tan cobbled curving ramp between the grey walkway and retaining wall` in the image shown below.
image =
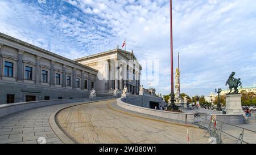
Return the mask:
<path id="1" fill-rule="evenodd" d="M 120 113 L 109 107 L 115 100 L 64 109 L 56 120 L 77 143 L 188 143 L 187 127 Z M 189 127 L 191 143 L 209 143 L 204 130 Z"/>

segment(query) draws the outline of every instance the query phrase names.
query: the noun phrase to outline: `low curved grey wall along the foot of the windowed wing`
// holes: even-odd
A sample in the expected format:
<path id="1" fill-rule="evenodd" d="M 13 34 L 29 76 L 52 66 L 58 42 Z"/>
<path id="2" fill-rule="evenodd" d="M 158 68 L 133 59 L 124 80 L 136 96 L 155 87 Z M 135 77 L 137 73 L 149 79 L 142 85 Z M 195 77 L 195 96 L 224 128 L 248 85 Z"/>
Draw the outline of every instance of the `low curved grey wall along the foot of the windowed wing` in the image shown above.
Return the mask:
<path id="1" fill-rule="evenodd" d="M 34 109 L 37 107 L 51 106 L 58 104 L 69 104 L 75 102 L 86 102 L 86 101 L 97 101 L 97 100 L 107 100 L 114 98 L 109 97 L 97 97 L 93 100 L 91 98 L 77 98 L 77 99 L 64 99 L 64 100 L 48 100 L 48 101 L 34 101 L 34 102 L 20 102 L 15 104 L 5 104 L 0 105 L 0 118 L 5 117 L 10 114 L 18 113 L 23 110 Z"/>

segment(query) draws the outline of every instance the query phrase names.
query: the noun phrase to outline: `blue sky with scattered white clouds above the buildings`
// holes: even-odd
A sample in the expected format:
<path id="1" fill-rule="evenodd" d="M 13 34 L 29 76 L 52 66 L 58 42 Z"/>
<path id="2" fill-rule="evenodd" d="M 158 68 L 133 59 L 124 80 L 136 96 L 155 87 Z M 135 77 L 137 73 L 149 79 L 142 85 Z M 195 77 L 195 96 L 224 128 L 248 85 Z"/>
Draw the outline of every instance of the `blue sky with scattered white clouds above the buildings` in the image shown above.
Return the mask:
<path id="1" fill-rule="evenodd" d="M 126 38 L 139 61 L 159 61 L 155 88 L 170 92 L 168 0 L 1 0 L 0 6 L 0 32 L 70 59 L 115 49 Z M 244 87 L 256 83 L 255 0 L 173 0 L 172 9 L 181 92 L 226 89 L 232 71 Z"/>

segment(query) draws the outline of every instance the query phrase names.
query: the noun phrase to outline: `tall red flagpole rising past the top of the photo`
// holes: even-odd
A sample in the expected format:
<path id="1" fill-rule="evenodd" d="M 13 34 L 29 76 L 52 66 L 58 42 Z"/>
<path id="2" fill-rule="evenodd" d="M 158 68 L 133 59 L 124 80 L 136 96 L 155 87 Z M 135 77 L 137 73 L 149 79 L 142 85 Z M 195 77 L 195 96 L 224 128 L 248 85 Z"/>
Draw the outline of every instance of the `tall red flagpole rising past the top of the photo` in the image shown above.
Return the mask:
<path id="1" fill-rule="evenodd" d="M 172 0 L 170 0 L 170 35 L 171 35 L 171 104 L 174 104 L 174 48 L 172 45 Z"/>

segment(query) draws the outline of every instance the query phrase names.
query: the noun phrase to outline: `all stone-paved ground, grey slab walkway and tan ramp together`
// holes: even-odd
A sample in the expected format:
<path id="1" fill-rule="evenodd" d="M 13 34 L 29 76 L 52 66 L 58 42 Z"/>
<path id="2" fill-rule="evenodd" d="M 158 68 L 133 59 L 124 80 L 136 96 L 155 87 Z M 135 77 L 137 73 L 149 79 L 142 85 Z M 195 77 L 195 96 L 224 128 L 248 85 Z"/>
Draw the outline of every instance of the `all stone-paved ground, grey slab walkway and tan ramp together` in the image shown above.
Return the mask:
<path id="1" fill-rule="evenodd" d="M 255 125 L 251 118 L 249 124 L 241 127 L 255 130 Z M 69 141 L 63 140 L 58 130 Z M 241 133 L 238 128 L 224 127 L 224 130 L 237 136 Z M 208 137 L 204 137 L 205 130 L 188 124 L 188 131 L 192 144 L 209 143 Z M 245 131 L 244 140 L 255 143 L 255 136 Z M 116 99 L 40 107 L 0 119 L 0 143 L 38 144 L 39 137 L 45 137 L 47 144 L 188 143 L 187 126 L 183 122 L 123 109 Z M 236 143 L 236 139 L 225 134 L 221 139 L 222 143 Z"/>

